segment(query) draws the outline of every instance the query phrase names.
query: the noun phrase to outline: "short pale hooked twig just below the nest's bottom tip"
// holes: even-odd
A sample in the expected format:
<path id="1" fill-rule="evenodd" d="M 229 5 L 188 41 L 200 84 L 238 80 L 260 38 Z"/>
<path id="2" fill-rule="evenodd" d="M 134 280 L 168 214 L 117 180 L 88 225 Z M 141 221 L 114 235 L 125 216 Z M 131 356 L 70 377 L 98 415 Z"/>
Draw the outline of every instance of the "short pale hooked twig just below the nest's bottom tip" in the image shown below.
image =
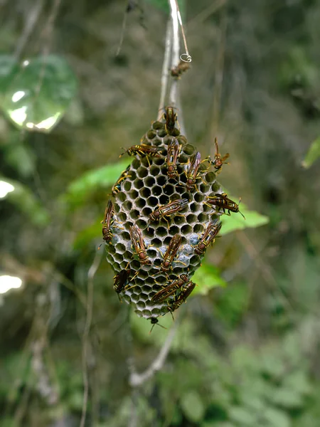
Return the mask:
<path id="1" fill-rule="evenodd" d="M 156 373 L 156 371 L 160 371 L 162 367 L 164 367 L 164 362 L 166 362 L 166 357 L 169 354 L 171 343 L 174 339 L 174 336 L 176 335 L 176 331 L 178 330 L 178 320 L 174 322 L 173 327 L 171 327 L 171 330 L 168 333 L 168 336 L 166 337 L 166 341 L 164 342 L 164 345 L 161 347 L 160 352 L 156 359 L 154 359 L 154 362 L 151 363 L 149 368 L 147 368 L 142 374 L 138 374 L 135 370 L 133 360 L 130 361 L 129 369 L 130 369 L 130 376 L 129 376 L 129 384 L 132 387 L 139 387 L 142 384 L 144 384 L 146 381 L 151 379 L 152 376 Z"/>

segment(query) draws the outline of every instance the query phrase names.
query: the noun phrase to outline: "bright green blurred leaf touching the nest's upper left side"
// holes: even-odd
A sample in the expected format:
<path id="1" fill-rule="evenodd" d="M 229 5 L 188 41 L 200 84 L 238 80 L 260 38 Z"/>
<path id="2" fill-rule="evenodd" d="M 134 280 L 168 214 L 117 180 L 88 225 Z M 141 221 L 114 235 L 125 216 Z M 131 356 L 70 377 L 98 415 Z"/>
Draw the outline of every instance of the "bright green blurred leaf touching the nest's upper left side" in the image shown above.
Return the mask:
<path id="1" fill-rule="evenodd" d="M 85 172 L 80 178 L 69 184 L 62 199 L 69 203 L 82 203 L 92 191 L 96 191 L 98 188 L 107 188 L 114 184 L 127 166 L 128 160 L 122 160 Z"/>

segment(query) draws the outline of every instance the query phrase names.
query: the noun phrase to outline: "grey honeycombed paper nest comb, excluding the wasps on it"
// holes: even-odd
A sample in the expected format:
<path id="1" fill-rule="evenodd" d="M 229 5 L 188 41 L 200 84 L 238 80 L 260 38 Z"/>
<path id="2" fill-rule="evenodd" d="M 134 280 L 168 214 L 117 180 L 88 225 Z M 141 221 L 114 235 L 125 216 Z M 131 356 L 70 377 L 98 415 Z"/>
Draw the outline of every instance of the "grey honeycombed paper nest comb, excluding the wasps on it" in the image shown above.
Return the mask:
<path id="1" fill-rule="evenodd" d="M 134 305 L 137 315 L 147 319 L 165 315 L 169 311 L 168 303 L 175 294 L 158 303 L 152 301 L 151 297 L 182 274 L 188 275 L 189 279 L 192 277 L 203 258 L 203 255 L 195 252 L 199 238 L 208 223 L 222 214 L 204 204 L 208 196 L 222 192 L 215 181 L 213 168 L 209 170 L 208 164 L 200 164 L 198 170 L 202 179 L 197 179 L 195 188 L 188 191 L 185 171 L 196 149 L 179 135 L 176 128 L 170 133 L 176 135 L 181 145 L 176 162 L 176 179 L 169 178 L 166 164 L 168 144 L 174 136 L 168 134 L 165 123 L 154 122 L 142 138 L 142 144 L 161 147 L 161 157 L 135 156 L 125 177 L 118 181 L 115 189 L 117 193 L 114 188 L 112 191 L 114 221 L 110 226 L 112 237 L 106 241 L 107 260 L 116 274 L 129 271 L 125 289 L 119 292 L 119 296 Z M 186 206 L 178 214 L 149 222 L 149 215 L 157 206 L 176 199 L 187 199 Z M 142 232 L 149 264 L 140 263 L 132 244 L 130 229 L 134 225 Z M 181 245 L 171 269 L 166 273 L 161 270 L 161 263 L 171 238 L 177 233 L 181 235 Z"/>

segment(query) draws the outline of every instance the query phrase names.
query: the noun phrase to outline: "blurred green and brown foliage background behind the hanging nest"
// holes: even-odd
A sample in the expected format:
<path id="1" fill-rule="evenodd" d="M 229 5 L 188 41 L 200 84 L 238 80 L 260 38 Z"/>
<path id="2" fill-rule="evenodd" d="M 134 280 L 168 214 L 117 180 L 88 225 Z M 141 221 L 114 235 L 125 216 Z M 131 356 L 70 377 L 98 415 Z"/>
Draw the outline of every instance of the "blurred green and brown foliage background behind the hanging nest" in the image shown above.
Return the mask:
<path id="1" fill-rule="evenodd" d="M 193 62 L 178 121 L 203 157 L 215 136 L 230 152 L 218 179 L 245 219 L 223 216 L 164 367 L 139 389 L 130 363 L 145 371 L 174 320 L 150 334 L 102 259 L 83 362 L 84 295 L 130 162 L 120 147 L 156 119 L 167 3 L 139 2 L 144 27 L 141 8 L 127 15 L 117 58 L 122 2 L 61 2 L 48 41 L 51 3 L 0 2 L 0 180 L 14 186 L 0 200 L 0 271 L 23 278 L 0 300 L 0 427 L 79 426 L 84 366 L 87 426 L 318 427 L 319 3 L 181 2 Z M 26 132 L 49 116 L 46 132 Z"/>

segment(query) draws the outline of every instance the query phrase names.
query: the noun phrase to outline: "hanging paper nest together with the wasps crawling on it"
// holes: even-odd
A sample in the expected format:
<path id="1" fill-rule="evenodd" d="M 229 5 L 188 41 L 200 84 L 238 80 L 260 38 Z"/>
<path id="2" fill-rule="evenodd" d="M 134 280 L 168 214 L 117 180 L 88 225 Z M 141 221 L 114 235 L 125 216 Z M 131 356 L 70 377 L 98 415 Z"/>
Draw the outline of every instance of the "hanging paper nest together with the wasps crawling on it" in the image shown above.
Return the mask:
<path id="1" fill-rule="evenodd" d="M 228 155 L 221 159 L 216 144 L 215 160 L 201 161 L 176 129 L 171 107 L 164 119 L 127 150 L 135 158 L 112 187 L 102 221 L 114 290 L 153 323 L 192 292 L 191 277 L 220 230 L 219 216 L 237 206 L 210 170 Z"/>

